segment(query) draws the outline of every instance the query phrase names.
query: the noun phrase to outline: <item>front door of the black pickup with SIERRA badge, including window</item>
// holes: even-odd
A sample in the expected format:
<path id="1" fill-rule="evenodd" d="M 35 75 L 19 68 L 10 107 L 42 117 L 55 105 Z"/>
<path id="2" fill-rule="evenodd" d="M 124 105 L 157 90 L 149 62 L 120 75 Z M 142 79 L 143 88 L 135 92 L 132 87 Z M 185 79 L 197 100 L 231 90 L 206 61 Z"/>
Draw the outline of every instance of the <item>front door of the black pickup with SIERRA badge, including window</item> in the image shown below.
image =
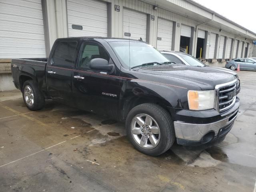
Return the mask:
<path id="1" fill-rule="evenodd" d="M 76 106 L 96 114 L 118 117 L 120 96 L 120 72 L 90 69 L 89 62 L 94 58 L 103 58 L 113 64 L 108 52 L 96 42 L 84 42 L 80 51 L 78 65 L 73 77 L 73 96 Z"/>

